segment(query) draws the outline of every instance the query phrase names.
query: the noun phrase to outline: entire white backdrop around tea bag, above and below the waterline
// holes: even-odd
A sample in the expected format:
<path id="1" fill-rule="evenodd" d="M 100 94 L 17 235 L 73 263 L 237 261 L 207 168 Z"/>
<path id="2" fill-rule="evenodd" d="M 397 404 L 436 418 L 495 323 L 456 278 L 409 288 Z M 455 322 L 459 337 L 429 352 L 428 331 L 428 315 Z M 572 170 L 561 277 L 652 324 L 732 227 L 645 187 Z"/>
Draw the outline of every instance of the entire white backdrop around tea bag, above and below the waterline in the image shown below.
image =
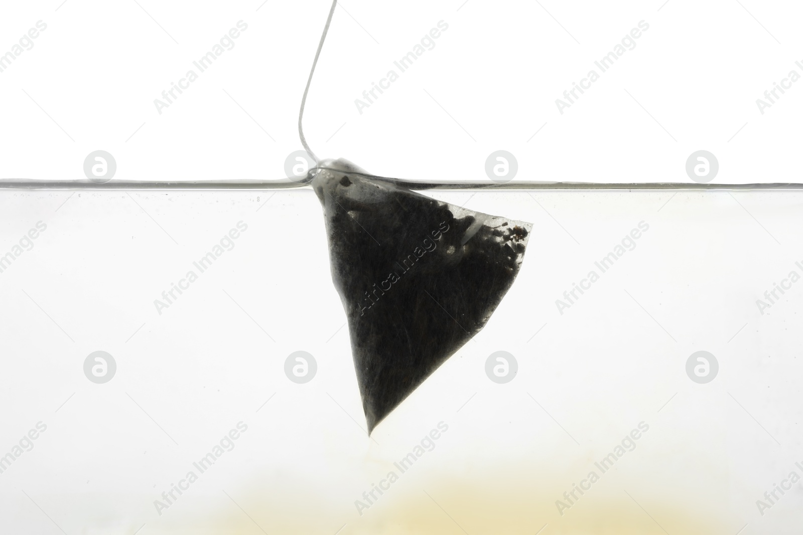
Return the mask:
<path id="1" fill-rule="evenodd" d="M 48 26 L 0 73 L 0 177 L 84 178 L 103 149 L 120 179 L 282 178 L 328 7 L 3 6 L 0 51 Z M 349 2 L 306 133 L 320 157 L 404 178 L 483 179 L 501 148 L 518 180 L 691 182 L 687 156 L 706 149 L 715 182 L 799 180 L 797 86 L 764 116 L 755 103 L 801 59 L 796 9 Z M 241 19 L 234 49 L 160 116 L 153 99 Z M 642 19 L 638 46 L 561 116 L 554 100 Z M 434 50 L 360 115 L 353 100 L 439 20 Z M 0 254 L 47 224 L 0 273 L 0 455 L 48 426 L 0 474 L 0 531 L 797 533 L 800 484 L 763 517 L 756 500 L 803 464 L 803 286 L 765 314 L 756 299 L 800 272 L 799 193 L 432 195 L 535 230 L 486 328 L 369 439 L 312 191 L 0 193 Z M 154 299 L 238 221 L 234 249 L 158 314 Z M 635 249 L 560 314 L 556 299 L 640 221 Z M 117 362 L 102 385 L 83 371 L 99 350 Z M 719 360 L 705 385 L 685 371 L 700 350 Z M 284 375 L 293 351 L 315 356 L 309 383 Z M 485 375 L 495 351 L 516 356 L 512 382 Z M 234 450 L 158 515 L 161 492 L 241 420 Z M 361 516 L 362 492 L 440 421 L 436 448 Z M 641 421 L 638 448 L 561 517 L 555 501 Z"/>

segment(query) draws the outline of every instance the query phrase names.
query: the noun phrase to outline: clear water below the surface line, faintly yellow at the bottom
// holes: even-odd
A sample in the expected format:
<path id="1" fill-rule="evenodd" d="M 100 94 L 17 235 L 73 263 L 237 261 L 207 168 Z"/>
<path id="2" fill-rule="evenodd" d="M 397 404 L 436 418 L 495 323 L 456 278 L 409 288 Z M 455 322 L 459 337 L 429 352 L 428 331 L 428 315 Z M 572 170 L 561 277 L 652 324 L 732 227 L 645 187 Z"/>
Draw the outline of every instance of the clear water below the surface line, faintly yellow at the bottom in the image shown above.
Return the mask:
<path id="1" fill-rule="evenodd" d="M 0 453 L 47 425 L 0 474 L 11 531 L 797 533 L 799 482 L 756 502 L 803 475 L 801 193 L 426 192 L 534 230 L 487 326 L 369 437 L 312 190 L 109 184 L 0 191 L 0 253 L 22 251 L 0 273 Z"/>

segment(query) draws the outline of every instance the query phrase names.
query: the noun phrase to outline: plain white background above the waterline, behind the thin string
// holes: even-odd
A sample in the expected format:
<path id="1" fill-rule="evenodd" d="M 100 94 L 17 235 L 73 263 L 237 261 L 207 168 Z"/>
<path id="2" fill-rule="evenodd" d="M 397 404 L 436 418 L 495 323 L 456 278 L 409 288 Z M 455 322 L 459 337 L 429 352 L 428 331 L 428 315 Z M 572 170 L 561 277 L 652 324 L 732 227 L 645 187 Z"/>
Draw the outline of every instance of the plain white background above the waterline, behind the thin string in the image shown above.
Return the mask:
<path id="1" fill-rule="evenodd" d="M 0 73 L 0 177 L 83 178 L 103 149 L 120 179 L 282 178 L 329 5 L 6 2 L 0 51 L 47 30 Z M 795 2 L 353 0 L 332 19 L 306 134 L 320 158 L 412 179 L 484 179 L 503 149 L 520 180 L 690 181 L 704 149 L 716 182 L 800 181 L 801 84 L 756 106 L 803 75 L 800 16 Z M 153 100 L 239 20 L 234 49 L 159 115 Z M 354 100 L 441 20 L 434 49 L 360 114 Z M 634 50 L 561 115 L 555 99 L 642 20 Z"/>

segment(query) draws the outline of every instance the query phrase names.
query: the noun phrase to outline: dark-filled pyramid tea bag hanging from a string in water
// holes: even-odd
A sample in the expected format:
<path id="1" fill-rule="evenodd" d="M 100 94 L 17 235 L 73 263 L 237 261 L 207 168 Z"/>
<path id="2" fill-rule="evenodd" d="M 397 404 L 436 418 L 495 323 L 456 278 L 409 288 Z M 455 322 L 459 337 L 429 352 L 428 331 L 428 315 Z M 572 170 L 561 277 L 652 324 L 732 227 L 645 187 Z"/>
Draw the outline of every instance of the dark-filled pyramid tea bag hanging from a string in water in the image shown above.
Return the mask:
<path id="1" fill-rule="evenodd" d="M 318 169 L 312 188 L 370 433 L 485 326 L 532 225 L 414 193 L 347 160 Z"/>

